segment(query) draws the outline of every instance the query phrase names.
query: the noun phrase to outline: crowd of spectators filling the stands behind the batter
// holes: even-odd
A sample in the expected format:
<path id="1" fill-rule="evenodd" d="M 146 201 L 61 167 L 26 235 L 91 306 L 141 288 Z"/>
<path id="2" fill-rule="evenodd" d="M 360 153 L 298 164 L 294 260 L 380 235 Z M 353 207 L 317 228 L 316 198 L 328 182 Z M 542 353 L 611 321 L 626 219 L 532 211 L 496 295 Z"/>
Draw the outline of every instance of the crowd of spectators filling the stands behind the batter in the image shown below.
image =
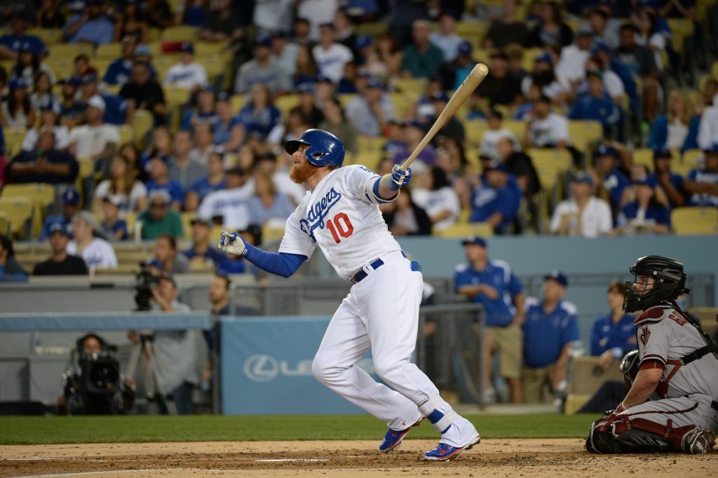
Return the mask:
<path id="1" fill-rule="evenodd" d="M 490 72 L 466 119 L 444 126 L 414 163 L 411 194 L 384 208 L 394 234 L 437 233 L 465 220 L 487 222 L 497 234 L 665 234 L 674 207 L 718 207 L 718 81 L 704 80 L 699 92 L 673 88 L 663 62 L 663 52 L 685 60 L 673 51 L 667 19 L 699 22 L 690 1 L 475 3 L 474 11 L 462 1 L 408 0 L 391 8 L 382 1 L 218 0 L 186 1 L 173 12 L 166 0 L 86 0 L 4 9 L 0 57 L 10 67 L 0 68 L 0 133 L 27 133 L 19 154 L 0 159 L 0 178 L 63 186 L 75 183 L 80 161 L 92 161 L 97 185 L 87 211 L 78 212 L 77 193 L 67 189 L 62 215 L 50 217 L 39 237 L 57 233 L 55 224 L 71 225 L 67 250 L 88 268 L 116 263 L 113 241 L 189 235 L 183 213 L 198 217 L 193 239 L 205 226 L 281 227 L 304 194 L 287 177 L 284 141 L 326 128 L 350 160 L 364 141 L 380 141 L 370 167 L 383 174 L 409 155 L 450 91 L 483 60 Z M 488 25 L 484 37 L 462 37 L 460 22 L 477 19 Z M 386 33 L 356 34 L 369 20 L 386 20 Z M 208 75 L 190 39 L 169 45 L 177 61 L 160 71 L 150 33 L 175 25 L 223 44 L 232 78 Z M 53 45 L 29 27 L 60 28 L 71 44 L 116 42 L 118 57 L 102 71 L 92 55 L 78 55 L 75 74 L 57 78 L 45 62 Z M 523 55 L 535 55 L 533 70 L 523 68 Z M 409 78 L 426 87 L 400 109 L 393 95 Z M 180 111 L 169 108 L 167 88 L 189 91 Z M 283 110 L 279 100 L 289 94 L 297 106 Z M 122 144 L 120 126 L 140 110 L 153 127 L 146 139 Z M 603 140 L 589 149 L 574 145 L 574 120 L 600 122 Z M 485 121 L 481 137 L 471 136 L 469 121 Z M 523 121 L 525 135 L 508 121 Z M 652 165 L 635 161 L 639 146 L 655 151 Z M 534 149 L 572 157 L 565 187 L 542 184 Z M 673 158 L 694 149 L 703 151 L 699 163 L 673 172 Z M 553 188 L 558 200 L 541 229 Z"/>

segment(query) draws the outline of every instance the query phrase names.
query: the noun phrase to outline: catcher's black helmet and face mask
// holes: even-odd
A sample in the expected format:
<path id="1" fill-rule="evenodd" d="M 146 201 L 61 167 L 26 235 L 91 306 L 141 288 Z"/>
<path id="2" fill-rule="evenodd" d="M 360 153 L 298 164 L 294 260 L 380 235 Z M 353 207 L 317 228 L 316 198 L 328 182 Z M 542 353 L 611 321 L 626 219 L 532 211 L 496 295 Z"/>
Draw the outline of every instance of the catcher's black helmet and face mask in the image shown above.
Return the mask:
<path id="1" fill-rule="evenodd" d="M 635 312 L 648 310 L 661 302 L 677 299 L 686 289 L 686 274 L 683 263 L 663 256 L 643 256 L 629 268 L 635 277 L 634 281 L 626 281 L 624 285 L 625 299 L 623 310 Z M 653 277 L 655 283 L 648 291 L 637 291 L 634 287 L 640 276 Z"/>

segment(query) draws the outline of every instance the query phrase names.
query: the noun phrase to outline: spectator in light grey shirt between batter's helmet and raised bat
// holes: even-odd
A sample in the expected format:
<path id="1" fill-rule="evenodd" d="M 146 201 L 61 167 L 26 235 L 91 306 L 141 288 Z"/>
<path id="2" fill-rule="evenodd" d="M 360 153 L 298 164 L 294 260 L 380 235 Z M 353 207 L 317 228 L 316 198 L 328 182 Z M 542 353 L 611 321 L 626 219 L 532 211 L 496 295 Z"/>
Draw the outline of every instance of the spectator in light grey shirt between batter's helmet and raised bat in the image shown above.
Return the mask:
<path id="1" fill-rule="evenodd" d="M 371 78 L 366 92 L 347 104 L 345 114 L 357 133 L 381 136 L 386 123 L 396 118 L 394 103 L 384 93 L 385 89 L 383 81 Z"/>

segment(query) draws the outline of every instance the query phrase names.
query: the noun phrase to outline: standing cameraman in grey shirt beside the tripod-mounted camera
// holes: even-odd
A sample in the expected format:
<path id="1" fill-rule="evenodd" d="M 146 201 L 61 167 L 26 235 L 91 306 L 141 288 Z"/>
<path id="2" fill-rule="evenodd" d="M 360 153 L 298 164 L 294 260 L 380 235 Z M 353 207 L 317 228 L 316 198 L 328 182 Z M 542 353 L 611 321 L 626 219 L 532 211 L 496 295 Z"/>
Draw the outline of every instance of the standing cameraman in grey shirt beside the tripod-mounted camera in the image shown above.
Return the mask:
<path id="1" fill-rule="evenodd" d="M 177 283 L 169 274 L 159 276 L 152 289 L 151 310 L 189 312 L 190 306 L 177 301 Z M 200 385 L 208 370 L 208 350 L 200 330 L 157 330 L 154 353 L 163 385 L 177 406 L 177 413 L 192 413 L 192 388 Z M 164 411 L 164 410 L 163 410 Z"/>

